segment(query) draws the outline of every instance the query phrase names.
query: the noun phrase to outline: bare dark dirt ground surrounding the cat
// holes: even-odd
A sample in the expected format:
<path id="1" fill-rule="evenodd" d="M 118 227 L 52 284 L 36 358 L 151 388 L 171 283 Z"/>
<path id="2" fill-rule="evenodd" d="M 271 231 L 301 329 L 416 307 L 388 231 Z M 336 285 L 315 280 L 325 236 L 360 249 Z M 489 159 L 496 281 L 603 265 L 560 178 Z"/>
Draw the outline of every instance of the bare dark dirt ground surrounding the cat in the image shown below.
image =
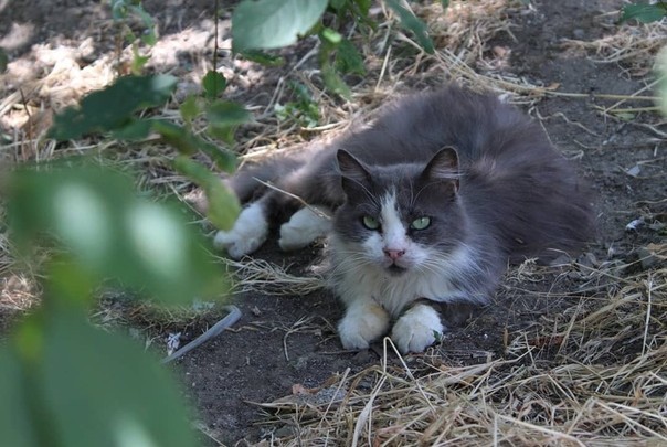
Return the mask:
<path id="1" fill-rule="evenodd" d="M 203 0 L 145 2 L 146 9 L 158 20 L 161 41 L 166 42 L 156 47 L 151 62 L 158 70 L 167 67 L 178 76 L 189 78 L 192 72 L 201 68 L 202 61 L 210 60 L 212 4 L 212 1 Z M 495 301 L 453 328 L 428 355 L 440 356 L 446 364 L 474 364 L 489 358 L 502 358 L 508 339 L 530 332 L 544 316 L 558 318 L 581 296 L 595 299 L 593 292 L 586 292 L 591 286 L 586 266 L 595 268 L 604 263 L 636 259 L 648 244 L 664 243 L 664 234 L 650 225 L 652 219 L 660 215 L 664 219 L 667 212 L 663 120 L 653 111 L 642 110 L 631 110 L 622 116 L 625 119 L 618 119 L 599 108 L 616 102 L 602 95 L 639 92 L 650 82 L 650 72 L 645 63 L 633 58 L 596 62 L 596 57 L 603 58 L 602 54 L 582 50 L 576 44 L 614 34 L 618 29 L 614 12 L 622 4 L 623 1 L 605 0 L 532 1 L 531 7 L 517 7 L 508 12 L 511 33 L 499 32 L 485 43 L 483 58 L 490 57 L 489 54 L 506 55 L 502 63 L 494 67 L 496 73 L 550 87 L 557 93 L 576 94 L 547 95 L 518 106 L 539 119 L 551 140 L 580 164 L 582 175 L 596 194 L 600 230 L 579 263 L 565 262 L 564 266 L 548 268 L 531 264 L 512 267 Z M 221 46 L 224 47 L 225 42 L 229 46 L 229 30 L 223 28 L 222 32 Z M 0 88 L 6 88 L 0 99 L 15 91 L 17 73 L 41 76 L 39 71 L 28 73 L 29 67 L 40 64 L 35 62 L 40 51 L 43 53 L 46 47 L 64 44 L 78 52 L 75 58 L 80 68 L 85 68 L 95 66 L 99 57 L 112 57 L 114 42 L 107 8 L 98 1 L 0 1 L 0 46 L 9 50 L 15 64 L 14 72 L 10 72 L 13 81 L 6 79 L 6 84 L 0 84 Z M 178 54 L 173 54 L 169 42 L 186 43 Z M 35 46 L 41 44 L 47 46 Z M 300 45 L 297 54 L 309 47 Z M 297 75 L 289 72 L 289 62 L 296 61 L 297 56 L 289 52 L 285 54 L 288 64 L 283 68 L 271 68 L 271 73 L 264 73 L 254 64 L 234 63 L 223 57 L 223 73 L 232 73 L 229 76 L 230 94 L 253 105 L 254 113 L 261 114 L 280 76 Z M 42 74 L 54 63 L 41 63 Z M 477 68 L 484 70 L 480 65 Z M 421 89 L 446 79 L 447 75 L 437 71 L 413 78 L 404 76 L 400 89 Z M 642 93 L 650 94 L 650 88 Z M 62 105 L 70 100 L 63 94 L 53 103 Z M 650 105 L 628 100 L 622 107 L 634 109 Z M 354 110 L 357 106 L 352 103 L 343 108 Z M 2 125 L 9 131 L 12 116 L 7 113 L 3 118 Z M 303 134 L 303 139 L 316 137 L 314 134 Z M 243 134 L 243 138 L 253 138 L 252 129 Z M 626 228 L 640 217 L 645 219 L 645 224 L 632 231 Z M 308 267 L 318 262 L 318 247 L 311 247 L 285 255 L 278 252 L 275 242 L 269 241 L 256 257 L 290 266 L 288 270 L 295 275 L 308 275 Z M 198 425 L 212 445 L 254 444 L 263 438 L 290 434 L 288 425 L 267 424 L 256 404 L 294 397 L 300 387 L 320 386 L 329 377 L 346 371 L 353 374 L 379 363 L 384 356 L 381 343 L 368 351 L 342 351 L 335 329 L 342 308 L 328 292 L 276 296 L 250 291 L 234 296 L 233 302 L 241 308 L 243 317 L 232 330 L 172 366 L 186 386 L 186 394 L 198 408 Z M 8 313 L 0 308 L 2 311 Z M 2 320 L 7 321 L 7 315 Z M 202 328 L 201 323 L 188 327 L 186 337 L 199 334 Z M 406 361 L 411 364 L 420 358 L 411 355 Z"/>

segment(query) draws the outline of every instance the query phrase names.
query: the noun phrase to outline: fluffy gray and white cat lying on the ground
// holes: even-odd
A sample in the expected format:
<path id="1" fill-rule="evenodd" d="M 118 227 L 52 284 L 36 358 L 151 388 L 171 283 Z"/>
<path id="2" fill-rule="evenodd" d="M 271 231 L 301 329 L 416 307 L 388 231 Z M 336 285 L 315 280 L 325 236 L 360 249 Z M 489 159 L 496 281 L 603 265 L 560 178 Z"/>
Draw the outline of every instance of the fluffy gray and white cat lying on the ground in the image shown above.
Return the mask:
<path id="1" fill-rule="evenodd" d="M 485 304 L 508 262 L 576 248 L 594 226 L 585 188 L 542 129 L 459 87 L 407 97 L 370 126 L 226 181 L 250 202 L 215 236 L 232 257 L 286 217 L 284 249 L 327 236 L 346 349 L 390 332 L 400 351 L 424 351 L 446 329 L 436 304 Z"/>

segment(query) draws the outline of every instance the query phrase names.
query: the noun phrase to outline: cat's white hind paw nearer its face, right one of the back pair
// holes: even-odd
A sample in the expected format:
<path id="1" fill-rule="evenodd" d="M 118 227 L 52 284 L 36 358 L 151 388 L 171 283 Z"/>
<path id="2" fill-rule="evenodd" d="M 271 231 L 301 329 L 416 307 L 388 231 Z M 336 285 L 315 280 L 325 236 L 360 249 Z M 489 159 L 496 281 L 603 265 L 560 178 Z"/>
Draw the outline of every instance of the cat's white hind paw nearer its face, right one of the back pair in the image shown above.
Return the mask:
<path id="1" fill-rule="evenodd" d="M 325 209 L 316 207 L 321 214 L 328 215 Z M 303 207 L 292 215 L 289 222 L 280 226 L 280 248 L 303 248 L 318 237 L 325 236 L 331 228 L 331 221 L 316 211 Z"/>

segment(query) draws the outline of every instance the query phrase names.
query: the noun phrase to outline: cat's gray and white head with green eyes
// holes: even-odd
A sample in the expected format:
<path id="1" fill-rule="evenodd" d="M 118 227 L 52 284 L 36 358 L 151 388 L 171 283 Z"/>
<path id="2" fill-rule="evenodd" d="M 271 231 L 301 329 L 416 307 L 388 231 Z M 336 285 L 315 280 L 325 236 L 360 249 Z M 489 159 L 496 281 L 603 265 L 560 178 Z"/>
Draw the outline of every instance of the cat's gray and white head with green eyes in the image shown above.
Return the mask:
<path id="1" fill-rule="evenodd" d="M 339 257 L 392 275 L 437 270 L 464 241 L 453 148 L 425 164 L 370 166 L 345 150 L 337 159 L 347 198 L 334 223 Z"/>

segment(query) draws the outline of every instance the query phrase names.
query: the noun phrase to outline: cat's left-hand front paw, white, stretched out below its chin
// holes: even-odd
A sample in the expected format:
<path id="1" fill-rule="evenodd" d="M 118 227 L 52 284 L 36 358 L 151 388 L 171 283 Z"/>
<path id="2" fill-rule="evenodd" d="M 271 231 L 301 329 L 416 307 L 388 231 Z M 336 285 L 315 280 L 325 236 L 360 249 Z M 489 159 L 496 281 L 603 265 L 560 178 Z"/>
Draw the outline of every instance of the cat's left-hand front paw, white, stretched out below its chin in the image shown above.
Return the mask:
<path id="1" fill-rule="evenodd" d="M 338 334 L 345 349 L 367 349 L 389 328 L 389 313 L 374 302 L 353 305 L 338 324 Z"/>

